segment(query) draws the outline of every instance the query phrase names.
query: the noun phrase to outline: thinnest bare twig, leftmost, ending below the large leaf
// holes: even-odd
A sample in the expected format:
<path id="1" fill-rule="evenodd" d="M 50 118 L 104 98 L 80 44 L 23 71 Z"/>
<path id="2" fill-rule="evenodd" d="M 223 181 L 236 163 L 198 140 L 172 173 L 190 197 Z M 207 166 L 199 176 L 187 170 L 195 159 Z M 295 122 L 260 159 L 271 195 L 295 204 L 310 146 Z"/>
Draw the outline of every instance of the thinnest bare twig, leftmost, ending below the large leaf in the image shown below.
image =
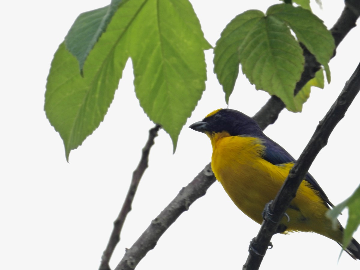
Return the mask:
<path id="1" fill-rule="evenodd" d="M 122 205 L 121 211 L 117 219 L 114 221 L 114 228 L 113 231 L 111 232 L 109 242 L 106 246 L 106 249 L 103 252 L 103 255 L 101 256 L 101 263 L 99 270 L 111 270 L 109 266 L 111 255 L 114 252 L 117 243 L 120 241 L 120 233 L 122 226 L 125 222 L 127 214 L 131 211 L 131 204 L 132 201 L 134 200 L 134 196 L 136 193 L 136 189 L 138 188 L 140 179 L 143 176 L 144 171 L 148 167 L 150 149 L 154 145 L 154 139 L 158 135 L 159 129 L 160 126 L 156 125 L 155 127 L 149 130 L 149 138 L 142 150 L 139 165 L 132 173 L 132 179 L 125 201 Z"/>

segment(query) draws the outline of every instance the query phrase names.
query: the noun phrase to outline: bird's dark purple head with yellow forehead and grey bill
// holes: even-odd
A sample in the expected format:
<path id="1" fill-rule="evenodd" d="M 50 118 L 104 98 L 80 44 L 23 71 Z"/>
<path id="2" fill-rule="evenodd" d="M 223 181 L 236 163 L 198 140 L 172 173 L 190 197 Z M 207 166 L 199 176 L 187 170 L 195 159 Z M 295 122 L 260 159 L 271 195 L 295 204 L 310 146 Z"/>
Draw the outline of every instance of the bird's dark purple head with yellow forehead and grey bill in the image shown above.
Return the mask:
<path id="1" fill-rule="evenodd" d="M 214 139 L 214 136 L 254 136 L 262 137 L 263 133 L 251 117 L 232 109 L 217 109 L 203 120 L 193 123 L 190 129 L 203 132 Z"/>

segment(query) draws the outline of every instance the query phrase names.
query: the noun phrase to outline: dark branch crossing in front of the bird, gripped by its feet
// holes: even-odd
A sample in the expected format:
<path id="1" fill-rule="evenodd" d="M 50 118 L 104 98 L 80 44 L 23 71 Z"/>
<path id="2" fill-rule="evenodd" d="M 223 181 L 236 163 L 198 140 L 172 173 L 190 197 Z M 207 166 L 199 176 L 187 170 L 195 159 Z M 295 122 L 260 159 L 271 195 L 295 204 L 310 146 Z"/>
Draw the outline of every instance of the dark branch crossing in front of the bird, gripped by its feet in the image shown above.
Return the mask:
<path id="1" fill-rule="evenodd" d="M 354 100 L 360 90 L 360 63 L 355 69 L 350 79 L 346 82 L 344 89 L 331 106 L 323 120 L 316 127 L 309 143 L 301 153 L 299 159 L 295 162 L 294 167 L 289 172 L 279 193 L 273 203 L 270 204 L 271 220 L 265 220 L 260 231 L 252 245 L 256 245 L 256 251 L 249 249 L 249 256 L 243 270 L 257 270 L 260 267 L 262 258 L 270 244 L 271 237 L 279 226 L 280 220 L 284 216 L 290 202 L 296 195 L 300 183 L 304 179 L 311 163 L 314 161 L 320 150 L 327 144 L 329 136 L 337 123 L 345 116 L 345 112 Z"/>

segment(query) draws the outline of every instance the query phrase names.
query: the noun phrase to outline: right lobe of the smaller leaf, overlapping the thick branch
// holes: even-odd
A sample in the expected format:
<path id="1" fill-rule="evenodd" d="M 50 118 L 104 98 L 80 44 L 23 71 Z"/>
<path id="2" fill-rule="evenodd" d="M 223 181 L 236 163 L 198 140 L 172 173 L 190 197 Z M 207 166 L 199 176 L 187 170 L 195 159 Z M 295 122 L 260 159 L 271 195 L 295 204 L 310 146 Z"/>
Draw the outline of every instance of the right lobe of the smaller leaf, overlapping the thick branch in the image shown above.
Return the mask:
<path id="1" fill-rule="evenodd" d="M 270 6 L 266 13 L 288 24 L 294 31 L 297 39 L 324 66 L 327 81 L 330 82 L 331 77 L 328 63 L 334 53 L 335 43 L 333 36 L 327 30 L 323 21 L 311 13 L 310 10 L 286 4 Z"/>

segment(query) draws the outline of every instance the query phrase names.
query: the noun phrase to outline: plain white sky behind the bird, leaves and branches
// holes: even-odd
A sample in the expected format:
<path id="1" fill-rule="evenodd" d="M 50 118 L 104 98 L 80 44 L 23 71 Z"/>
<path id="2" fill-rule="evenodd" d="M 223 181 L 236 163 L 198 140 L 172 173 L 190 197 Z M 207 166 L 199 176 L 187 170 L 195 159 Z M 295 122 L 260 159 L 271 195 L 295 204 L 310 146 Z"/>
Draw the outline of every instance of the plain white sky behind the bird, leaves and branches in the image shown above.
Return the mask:
<path id="1" fill-rule="evenodd" d="M 266 10 L 273 1 L 191 1 L 207 40 L 215 45 L 221 30 L 247 9 Z M 109 0 L 5 1 L 0 16 L 1 42 L 1 187 L 0 269 L 98 269 L 100 256 L 122 205 L 132 171 L 138 164 L 148 130 L 153 126 L 139 107 L 129 62 L 104 122 L 66 162 L 63 143 L 43 112 L 46 76 L 57 46 L 81 12 Z M 323 1 L 316 13 L 330 28 L 343 1 Z M 330 62 L 332 83 L 315 89 L 303 113 L 283 111 L 266 129 L 298 157 L 315 127 L 328 111 L 360 60 L 359 28 L 340 45 Z M 212 50 L 206 52 L 207 89 L 180 134 L 172 154 L 169 136 L 160 131 L 150 154 L 149 168 L 113 255 L 114 267 L 150 221 L 179 190 L 210 161 L 207 137 L 187 128 L 208 112 L 226 107 L 212 72 Z M 239 76 L 230 108 L 252 116 L 268 95 L 255 91 Z M 338 204 L 359 184 L 357 98 L 336 127 L 327 147 L 310 169 Z M 345 222 L 346 212 L 342 217 Z M 240 212 L 219 183 L 196 201 L 159 240 L 137 269 L 241 269 L 248 243 L 260 225 Z M 360 234 L 355 237 L 360 240 Z M 261 269 L 357 269 L 360 262 L 340 247 L 312 233 L 275 235 Z"/>

